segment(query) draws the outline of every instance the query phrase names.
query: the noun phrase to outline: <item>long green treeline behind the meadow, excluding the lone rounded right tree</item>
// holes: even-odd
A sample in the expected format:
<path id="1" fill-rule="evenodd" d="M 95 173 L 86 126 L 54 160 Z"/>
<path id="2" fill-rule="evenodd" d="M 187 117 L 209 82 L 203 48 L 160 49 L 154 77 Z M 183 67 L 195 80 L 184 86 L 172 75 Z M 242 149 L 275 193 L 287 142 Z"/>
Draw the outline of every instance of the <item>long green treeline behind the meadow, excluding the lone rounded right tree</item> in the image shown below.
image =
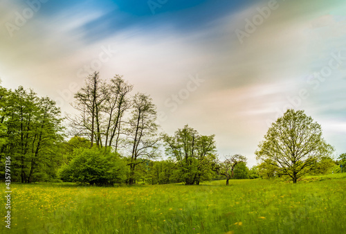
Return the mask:
<path id="1" fill-rule="evenodd" d="M 220 160 L 215 136 L 201 135 L 188 125 L 172 136 L 160 132 L 152 98 L 132 95 L 132 90 L 120 75 L 102 80 L 95 72 L 74 95 L 77 114 L 63 118 L 51 98 L 23 87 L 0 87 L 1 178 L 5 157 L 10 157 L 11 180 L 21 183 L 198 185 L 212 179 L 226 179 L 228 184 L 230 179 L 280 176 L 273 162 L 249 170 L 245 156 Z M 331 168 L 338 172 L 328 157 L 318 163 L 313 173 Z"/>

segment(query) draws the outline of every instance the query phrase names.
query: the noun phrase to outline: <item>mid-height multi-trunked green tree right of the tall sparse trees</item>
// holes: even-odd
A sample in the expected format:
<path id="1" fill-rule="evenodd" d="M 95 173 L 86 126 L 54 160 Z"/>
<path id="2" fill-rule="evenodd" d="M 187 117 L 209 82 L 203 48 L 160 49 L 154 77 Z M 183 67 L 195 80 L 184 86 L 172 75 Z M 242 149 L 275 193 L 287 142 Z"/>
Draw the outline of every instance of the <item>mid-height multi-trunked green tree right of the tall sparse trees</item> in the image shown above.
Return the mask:
<path id="1" fill-rule="evenodd" d="M 200 181 L 210 179 L 215 159 L 214 137 L 201 136 L 188 125 L 178 129 L 174 136 L 164 134 L 166 152 L 176 161 L 186 185 L 198 185 Z"/>

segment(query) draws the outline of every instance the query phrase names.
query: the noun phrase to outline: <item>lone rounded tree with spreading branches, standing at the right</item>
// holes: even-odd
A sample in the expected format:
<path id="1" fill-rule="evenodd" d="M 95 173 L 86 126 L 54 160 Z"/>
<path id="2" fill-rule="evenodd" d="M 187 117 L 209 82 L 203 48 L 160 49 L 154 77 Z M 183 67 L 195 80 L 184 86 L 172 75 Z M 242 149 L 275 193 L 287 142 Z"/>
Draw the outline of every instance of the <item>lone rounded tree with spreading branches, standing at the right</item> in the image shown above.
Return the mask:
<path id="1" fill-rule="evenodd" d="M 288 109 L 271 125 L 255 152 L 257 160 L 289 176 L 293 183 L 307 174 L 323 156 L 331 156 L 334 148 L 322 138 L 320 125 L 304 111 Z"/>

